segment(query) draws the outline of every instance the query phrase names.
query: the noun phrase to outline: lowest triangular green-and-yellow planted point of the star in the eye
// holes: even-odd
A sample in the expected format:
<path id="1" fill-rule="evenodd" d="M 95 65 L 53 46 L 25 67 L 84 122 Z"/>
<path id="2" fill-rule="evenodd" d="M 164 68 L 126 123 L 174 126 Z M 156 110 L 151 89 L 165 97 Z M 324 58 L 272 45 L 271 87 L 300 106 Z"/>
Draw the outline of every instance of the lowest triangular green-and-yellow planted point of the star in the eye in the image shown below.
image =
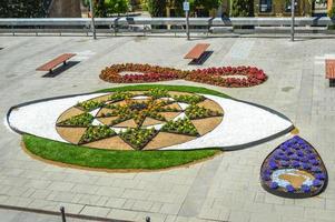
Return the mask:
<path id="1" fill-rule="evenodd" d="M 152 129 L 128 129 L 119 135 L 134 149 L 141 150 L 156 135 L 157 131 Z"/>

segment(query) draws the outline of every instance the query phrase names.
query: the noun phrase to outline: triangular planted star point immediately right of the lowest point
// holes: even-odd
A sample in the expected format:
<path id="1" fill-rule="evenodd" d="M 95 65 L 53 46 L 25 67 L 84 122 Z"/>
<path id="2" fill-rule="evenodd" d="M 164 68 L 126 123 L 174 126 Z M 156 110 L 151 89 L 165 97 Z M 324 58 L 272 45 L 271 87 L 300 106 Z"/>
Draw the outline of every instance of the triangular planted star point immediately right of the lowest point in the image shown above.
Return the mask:
<path id="1" fill-rule="evenodd" d="M 199 135 L 195 125 L 189 121 L 189 119 L 179 119 L 177 121 L 168 121 L 162 128 L 162 132 L 173 132 L 179 134 L 188 134 L 197 137 Z"/>

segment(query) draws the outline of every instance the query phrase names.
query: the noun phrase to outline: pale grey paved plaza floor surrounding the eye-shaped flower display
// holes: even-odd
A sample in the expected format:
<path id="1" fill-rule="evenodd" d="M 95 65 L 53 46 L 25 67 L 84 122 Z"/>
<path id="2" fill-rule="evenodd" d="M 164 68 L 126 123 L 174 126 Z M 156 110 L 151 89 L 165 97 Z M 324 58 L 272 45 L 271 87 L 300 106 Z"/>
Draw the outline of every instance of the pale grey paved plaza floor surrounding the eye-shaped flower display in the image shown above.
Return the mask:
<path id="1" fill-rule="evenodd" d="M 151 63 L 195 69 L 184 56 L 194 44 L 210 43 L 214 53 L 201 67 L 256 65 L 269 77 L 264 84 L 227 89 L 201 85 L 234 98 L 269 107 L 299 129 L 319 152 L 328 170 L 328 186 L 309 199 L 267 193 L 259 182 L 264 159 L 287 135 L 249 149 L 224 152 L 213 160 L 158 172 L 107 173 L 60 168 L 30 158 L 21 137 L 0 127 L 0 205 L 58 211 L 116 220 L 152 222 L 331 222 L 335 221 L 335 88 L 325 79 L 325 58 L 335 58 L 334 39 L 209 38 L 186 41 L 165 37 L 0 37 L 0 113 L 42 98 L 111 88 L 99 79 L 112 63 Z M 79 63 L 53 78 L 36 71 L 66 52 Z M 243 134 L 240 135 L 243 137 Z M 13 215 L 14 214 L 14 215 Z M 28 213 L 27 213 L 28 214 Z M 27 218 L 31 218 L 29 215 Z M 0 221 L 27 221 L 0 210 Z M 37 215 L 36 221 L 60 221 Z M 35 221 L 35 220 L 31 220 Z M 71 221 L 69 219 L 69 221 Z M 73 220 L 79 221 L 79 220 Z"/>

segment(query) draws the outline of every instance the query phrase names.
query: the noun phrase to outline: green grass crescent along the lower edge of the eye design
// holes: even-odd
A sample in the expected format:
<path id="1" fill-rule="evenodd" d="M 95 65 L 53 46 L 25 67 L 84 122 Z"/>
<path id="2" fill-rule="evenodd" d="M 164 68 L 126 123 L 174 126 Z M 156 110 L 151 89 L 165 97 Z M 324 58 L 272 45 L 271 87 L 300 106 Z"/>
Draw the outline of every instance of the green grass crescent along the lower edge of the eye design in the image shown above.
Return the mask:
<path id="1" fill-rule="evenodd" d="M 29 152 L 46 160 L 95 169 L 158 170 L 183 165 L 213 157 L 219 150 L 189 151 L 112 151 L 57 142 L 35 135 L 23 135 Z"/>

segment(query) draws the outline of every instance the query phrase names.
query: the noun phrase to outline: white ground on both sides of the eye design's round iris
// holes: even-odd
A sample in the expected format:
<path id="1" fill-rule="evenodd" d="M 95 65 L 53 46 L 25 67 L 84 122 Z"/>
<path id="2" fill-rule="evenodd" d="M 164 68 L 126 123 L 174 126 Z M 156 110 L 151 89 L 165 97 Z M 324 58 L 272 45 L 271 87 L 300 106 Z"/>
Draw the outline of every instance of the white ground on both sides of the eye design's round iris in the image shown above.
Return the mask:
<path id="1" fill-rule="evenodd" d="M 107 93 L 55 99 L 12 110 L 9 123 L 22 132 L 66 142 L 56 131 L 56 121 L 67 109 L 85 100 Z M 293 127 L 276 113 L 245 102 L 203 94 L 217 102 L 225 111 L 224 120 L 211 132 L 195 140 L 161 150 L 190 150 L 201 148 L 231 148 L 267 139 Z"/>

